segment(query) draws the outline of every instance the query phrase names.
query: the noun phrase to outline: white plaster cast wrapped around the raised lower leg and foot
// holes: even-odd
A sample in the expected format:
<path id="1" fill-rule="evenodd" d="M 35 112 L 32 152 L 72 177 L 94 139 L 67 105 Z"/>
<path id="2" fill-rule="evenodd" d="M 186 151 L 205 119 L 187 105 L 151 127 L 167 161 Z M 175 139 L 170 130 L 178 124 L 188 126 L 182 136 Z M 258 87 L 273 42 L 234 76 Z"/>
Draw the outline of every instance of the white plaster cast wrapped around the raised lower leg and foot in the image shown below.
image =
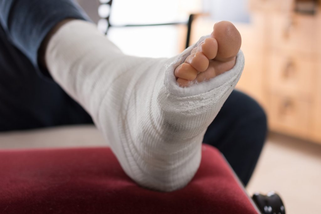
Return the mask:
<path id="1" fill-rule="evenodd" d="M 170 59 L 126 56 L 94 24 L 74 20 L 48 43 L 52 77 L 89 112 L 126 174 L 143 187 L 173 191 L 193 178 L 204 133 L 242 73 L 240 51 L 230 71 L 179 87 L 175 68 L 205 38 Z"/>

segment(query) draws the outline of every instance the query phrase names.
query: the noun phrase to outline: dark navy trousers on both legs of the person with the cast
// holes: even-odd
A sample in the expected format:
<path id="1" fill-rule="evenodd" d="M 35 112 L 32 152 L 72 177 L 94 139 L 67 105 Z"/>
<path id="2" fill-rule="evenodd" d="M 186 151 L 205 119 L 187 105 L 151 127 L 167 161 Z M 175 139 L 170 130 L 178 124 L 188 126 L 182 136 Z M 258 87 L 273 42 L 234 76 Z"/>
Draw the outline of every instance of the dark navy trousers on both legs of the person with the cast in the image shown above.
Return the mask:
<path id="1" fill-rule="evenodd" d="M 43 39 L 66 18 L 90 21 L 73 0 L 0 0 L 0 131 L 92 123 L 38 63 Z M 217 147 L 246 185 L 266 129 L 263 109 L 234 90 L 208 127 L 204 143 Z"/>

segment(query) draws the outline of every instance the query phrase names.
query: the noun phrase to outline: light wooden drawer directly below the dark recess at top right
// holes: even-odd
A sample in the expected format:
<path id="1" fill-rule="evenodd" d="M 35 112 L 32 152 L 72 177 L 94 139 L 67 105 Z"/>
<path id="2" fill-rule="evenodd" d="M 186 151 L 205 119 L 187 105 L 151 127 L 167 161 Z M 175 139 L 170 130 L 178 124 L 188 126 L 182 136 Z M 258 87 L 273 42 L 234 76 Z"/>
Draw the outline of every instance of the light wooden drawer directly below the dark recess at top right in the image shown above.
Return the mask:
<path id="1" fill-rule="evenodd" d="M 312 56 L 317 53 L 317 19 L 314 15 L 272 13 L 268 24 L 269 46 Z"/>

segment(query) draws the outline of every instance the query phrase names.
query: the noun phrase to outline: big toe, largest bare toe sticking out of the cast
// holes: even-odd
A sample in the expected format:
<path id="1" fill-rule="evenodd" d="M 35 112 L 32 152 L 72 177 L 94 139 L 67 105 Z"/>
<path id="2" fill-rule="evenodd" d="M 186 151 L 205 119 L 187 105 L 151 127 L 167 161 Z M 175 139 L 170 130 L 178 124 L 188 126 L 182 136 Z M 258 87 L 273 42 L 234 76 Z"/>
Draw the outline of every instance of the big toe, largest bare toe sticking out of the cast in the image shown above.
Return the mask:
<path id="1" fill-rule="evenodd" d="M 217 40 L 218 51 L 215 60 L 230 61 L 237 55 L 242 39 L 239 31 L 229 21 L 217 22 L 211 34 Z"/>

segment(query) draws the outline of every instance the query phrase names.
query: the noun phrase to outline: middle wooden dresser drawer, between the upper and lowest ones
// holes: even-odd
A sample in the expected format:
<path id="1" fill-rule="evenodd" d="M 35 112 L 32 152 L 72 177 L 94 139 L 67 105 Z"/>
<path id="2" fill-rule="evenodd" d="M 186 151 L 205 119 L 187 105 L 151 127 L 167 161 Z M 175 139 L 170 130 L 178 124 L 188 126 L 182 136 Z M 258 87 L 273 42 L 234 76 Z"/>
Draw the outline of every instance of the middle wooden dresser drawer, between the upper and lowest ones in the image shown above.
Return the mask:
<path id="1" fill-rule="evenodd" d="M 267 69 L 270 91 L 285 91 L 297 97 L 311 99 L 315 88 L 317 63 L 296 53 L 269 53 Z"/>

